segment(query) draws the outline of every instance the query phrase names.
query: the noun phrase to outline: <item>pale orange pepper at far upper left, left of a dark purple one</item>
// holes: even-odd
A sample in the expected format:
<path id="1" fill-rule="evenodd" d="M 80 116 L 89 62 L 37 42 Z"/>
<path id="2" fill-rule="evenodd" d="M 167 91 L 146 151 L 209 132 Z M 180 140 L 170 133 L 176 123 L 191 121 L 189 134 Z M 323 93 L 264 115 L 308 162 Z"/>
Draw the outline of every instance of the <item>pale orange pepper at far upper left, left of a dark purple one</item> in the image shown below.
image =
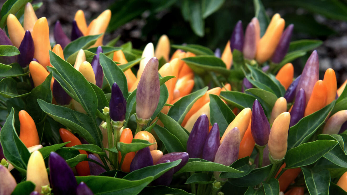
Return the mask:
<path id="1" fill-rule="evenodd" d="M 16 48 L 19 48 L 20 43 L 23 40 L 25 31 L 17 17 L 13 14 L 7 16 L 7 30 L 10 35 L 10 40 Z"/>

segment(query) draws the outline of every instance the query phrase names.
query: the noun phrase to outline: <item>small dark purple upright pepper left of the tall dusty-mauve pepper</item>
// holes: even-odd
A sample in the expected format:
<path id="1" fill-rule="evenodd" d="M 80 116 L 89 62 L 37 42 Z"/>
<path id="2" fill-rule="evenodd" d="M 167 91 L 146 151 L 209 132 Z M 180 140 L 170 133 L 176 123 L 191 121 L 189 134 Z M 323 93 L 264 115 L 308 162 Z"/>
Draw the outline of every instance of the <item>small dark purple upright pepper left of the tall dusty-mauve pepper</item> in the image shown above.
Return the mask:
<path id="1" fill-rule="evenodd" d="M 113 121 L 124 121 L 127 101 L 117 83 L 113 83 L 110 99 L 110 117 Z"/>

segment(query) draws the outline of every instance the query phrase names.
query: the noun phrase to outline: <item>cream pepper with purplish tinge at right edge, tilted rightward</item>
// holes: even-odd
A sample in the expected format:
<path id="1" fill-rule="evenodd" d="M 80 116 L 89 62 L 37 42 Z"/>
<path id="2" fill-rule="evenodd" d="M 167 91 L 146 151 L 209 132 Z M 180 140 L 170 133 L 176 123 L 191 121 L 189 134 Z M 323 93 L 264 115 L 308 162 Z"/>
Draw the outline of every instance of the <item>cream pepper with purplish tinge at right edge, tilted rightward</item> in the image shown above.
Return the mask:
<path id="1" fill-rule="evenodd" d="M 347 110 L 340 110 L 332 115 L 323 128 L 323 134 L 338 134 L 342 124 L 347 121 Z"/>

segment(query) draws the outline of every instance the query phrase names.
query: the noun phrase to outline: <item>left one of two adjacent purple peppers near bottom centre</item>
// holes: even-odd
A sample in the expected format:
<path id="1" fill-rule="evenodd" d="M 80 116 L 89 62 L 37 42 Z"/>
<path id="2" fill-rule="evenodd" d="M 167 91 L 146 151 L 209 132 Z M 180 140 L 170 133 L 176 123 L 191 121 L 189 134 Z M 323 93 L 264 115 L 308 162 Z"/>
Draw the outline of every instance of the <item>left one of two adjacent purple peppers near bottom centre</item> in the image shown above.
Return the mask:
<path id="1" fill-rule="evenodd" d="M 194 123 L 191 134 L 188 137 L 187 153 L 190 158 L 202 158 L 202 150 L 208 134 L 209 118 L 206 115 L 201 115 Z"/>

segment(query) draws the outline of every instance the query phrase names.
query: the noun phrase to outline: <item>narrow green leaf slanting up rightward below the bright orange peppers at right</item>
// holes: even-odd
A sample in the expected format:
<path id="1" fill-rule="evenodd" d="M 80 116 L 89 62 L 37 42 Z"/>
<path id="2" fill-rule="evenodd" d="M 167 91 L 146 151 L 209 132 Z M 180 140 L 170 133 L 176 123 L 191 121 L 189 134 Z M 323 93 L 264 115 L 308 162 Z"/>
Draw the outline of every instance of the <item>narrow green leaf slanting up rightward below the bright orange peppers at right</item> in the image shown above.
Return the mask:
<path id="1" fill-rule="evenodd" d="M 307 142 L 316 130 L 324 123 L 333 105 L 334 102 L 311 115 L 302 118 L 296 125 L 290 127 L 288 133 L 288 150 Z M 303 129 L 305 130 L 303 131 Z"/>

